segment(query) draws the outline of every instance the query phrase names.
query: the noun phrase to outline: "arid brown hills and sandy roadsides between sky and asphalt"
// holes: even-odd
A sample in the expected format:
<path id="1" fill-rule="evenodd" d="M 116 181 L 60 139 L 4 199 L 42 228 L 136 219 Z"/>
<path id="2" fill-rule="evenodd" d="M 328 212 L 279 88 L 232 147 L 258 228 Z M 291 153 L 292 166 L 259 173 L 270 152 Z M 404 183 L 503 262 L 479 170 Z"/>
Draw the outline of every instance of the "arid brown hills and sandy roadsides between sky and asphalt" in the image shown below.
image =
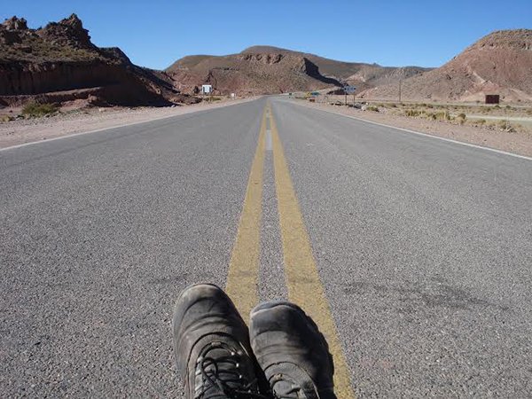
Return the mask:
<path id="1" fill-rule="evenodd" d="M 187 56 L 159 71 L 134 65 L 119 48 L 98 48 L 75 14 L 37 29 L 12 17 L 0 24 L 0 44 L 0 146 L 102 129 L 122 117 L 183 113 L 170 106 L 206 99 L 202 84 L 211 84 L 215 97 L 208 99 L 220 102 L 233 94 L 308 98 L 318 90 L 318 102 L 332 105 L 343 104 L 343 85 L 354 85 L 354 99 L 369 103 L 365 111 L 342 112 L 443 136 L 451 129 L 465 141 L 469 133 L 455 132 L 474 131 L 474 137 L 489 137 L 475 143 L 509 151 L 514 138 L 530 140 L 532 129 L 528 29 L 493 32 L 437 68 L 345 62 L 262 45 L 227 56 Z M 487 94 L 500 95 L 503 104 L 483 106 Z M 45 128 L 54 124 L 59 129 Z M 493 137 L 510 137 L 510 144 Z"/>

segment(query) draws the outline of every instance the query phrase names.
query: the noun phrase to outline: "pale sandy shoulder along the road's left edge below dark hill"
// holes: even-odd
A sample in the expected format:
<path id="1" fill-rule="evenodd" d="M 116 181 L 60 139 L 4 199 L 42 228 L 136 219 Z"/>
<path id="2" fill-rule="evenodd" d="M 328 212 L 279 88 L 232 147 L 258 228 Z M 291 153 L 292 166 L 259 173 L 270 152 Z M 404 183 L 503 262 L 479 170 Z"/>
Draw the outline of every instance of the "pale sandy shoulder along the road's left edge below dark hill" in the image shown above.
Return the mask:
<path id="1" fill-rule="evenodd" d="M 140 108 L 92 108 L 72 113 L 61 113 L 50 118 L 0 122 L 0 148 L 21 145 L 54 137 L 92 130 L 109 129 L 142 121 L 168 118 L 196 111 L 231 106 L 254 98 L 223 100 L 191 106 L 140 107 Z"/>

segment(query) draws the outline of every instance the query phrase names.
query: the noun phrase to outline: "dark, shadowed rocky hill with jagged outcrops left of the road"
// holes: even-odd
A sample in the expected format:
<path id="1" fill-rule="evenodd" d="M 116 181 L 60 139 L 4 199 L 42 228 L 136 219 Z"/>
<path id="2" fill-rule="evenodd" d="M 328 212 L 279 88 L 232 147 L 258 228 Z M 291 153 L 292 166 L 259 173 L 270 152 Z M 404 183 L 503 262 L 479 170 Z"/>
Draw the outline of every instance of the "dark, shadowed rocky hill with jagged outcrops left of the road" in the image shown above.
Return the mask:
<path id="1" fill-rule="evenodd" d="M 30 29 L 13 17 L 0 25 L 0 103 L 66 102 L 161 106 L 193 101 L 168 74 L 135 66 L 118 48 L 98 48 L 73 14 Z"/>

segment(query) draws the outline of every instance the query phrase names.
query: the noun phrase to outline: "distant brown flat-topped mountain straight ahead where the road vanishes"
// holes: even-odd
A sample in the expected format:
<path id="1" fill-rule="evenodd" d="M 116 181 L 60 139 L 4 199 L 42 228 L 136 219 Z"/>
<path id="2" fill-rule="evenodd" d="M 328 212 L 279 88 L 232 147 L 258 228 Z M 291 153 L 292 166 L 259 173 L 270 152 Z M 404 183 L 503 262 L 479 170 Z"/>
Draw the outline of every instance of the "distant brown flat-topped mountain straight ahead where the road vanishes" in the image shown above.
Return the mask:
<path id="1" fill-rule="evenodd" d="M 340 86 L 341 82 L 367 89 L 424 71 L 416 66 L 395 68 L 342 62 L 271 46 L 254 46 L 227 56 L 188 56 L 166 69 L 185 90 L 212 83 L 220 92 L 239 94 L 320 90 Z"/>

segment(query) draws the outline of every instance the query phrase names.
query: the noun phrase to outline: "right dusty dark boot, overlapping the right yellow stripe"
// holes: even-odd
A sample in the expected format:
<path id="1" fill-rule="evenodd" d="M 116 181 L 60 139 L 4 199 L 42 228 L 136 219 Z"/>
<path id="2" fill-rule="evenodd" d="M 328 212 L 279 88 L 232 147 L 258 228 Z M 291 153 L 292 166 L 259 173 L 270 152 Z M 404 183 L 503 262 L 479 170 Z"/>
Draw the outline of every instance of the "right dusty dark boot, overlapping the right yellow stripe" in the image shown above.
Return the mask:
<path id="1" fill-rule="evenodd" d="M 329 347 L 300 307 L 270 301 L 250 317 L 251 347 L 276 398 L 336 399 Z"/>

